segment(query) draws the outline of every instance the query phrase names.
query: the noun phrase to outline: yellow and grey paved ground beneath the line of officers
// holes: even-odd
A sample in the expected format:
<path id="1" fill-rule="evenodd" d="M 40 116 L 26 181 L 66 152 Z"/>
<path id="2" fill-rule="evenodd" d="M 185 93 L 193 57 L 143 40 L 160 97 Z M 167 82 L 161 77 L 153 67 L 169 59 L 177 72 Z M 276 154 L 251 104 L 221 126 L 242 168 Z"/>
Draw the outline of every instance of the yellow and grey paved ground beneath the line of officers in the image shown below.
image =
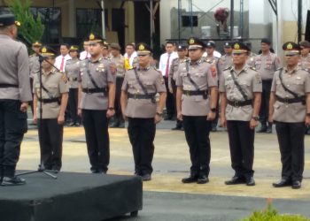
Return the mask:
<path id="1" fill-rule="evenodd" d="M 275 133 L 256 134 L 255 187 L 224 185 L 224 181 L 233 175 L 228 135 L 224 131 L 211 134 L 210 183 L 184 185 L 181 179 L 189 175 L 190 156 L 183 132 L 171 131 L 173 126 L 171 121 L 158 126 L 153 179 L 143 183 L 143 211 L 137 218 L 113 220 L 237 220 L 249 215 L 252 210 L 264 209 L 267 198 L 275 199 L 274 204 L 281 212 L 310 217 L 310 136 L 306 137 L 305 179 L 299 190 L 271 186 L 273 181 L 279 179 L 281 170 Z M 127 130 L 110 129 L 110 136 L 111 164 L 108 172 L 132 174 L 133 157 Z M 18 169 L 36 169 L 38 162 L 37 131 L 31 129 L 22 144 Z M 82 127 L 65 129 L 62 170 L 89 171 Z"/>

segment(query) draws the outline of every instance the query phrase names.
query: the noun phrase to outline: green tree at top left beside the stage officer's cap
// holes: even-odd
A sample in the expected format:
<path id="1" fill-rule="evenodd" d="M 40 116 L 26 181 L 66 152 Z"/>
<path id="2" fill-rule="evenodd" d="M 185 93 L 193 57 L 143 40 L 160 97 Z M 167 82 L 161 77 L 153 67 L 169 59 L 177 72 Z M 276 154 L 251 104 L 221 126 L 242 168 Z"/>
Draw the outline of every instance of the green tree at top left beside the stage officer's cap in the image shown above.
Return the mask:
<path id="1" fill-rule="evenodd" d="M 32 15 L 30 11 L 32 1 L 26 0 L 22 4 L 20 0 L 7 0 L 6 3 L 16 19 L 21 23 L 19 33 L 29 42 L 41 41 L 44 25 L 39 15 L 36 18 Z"/>

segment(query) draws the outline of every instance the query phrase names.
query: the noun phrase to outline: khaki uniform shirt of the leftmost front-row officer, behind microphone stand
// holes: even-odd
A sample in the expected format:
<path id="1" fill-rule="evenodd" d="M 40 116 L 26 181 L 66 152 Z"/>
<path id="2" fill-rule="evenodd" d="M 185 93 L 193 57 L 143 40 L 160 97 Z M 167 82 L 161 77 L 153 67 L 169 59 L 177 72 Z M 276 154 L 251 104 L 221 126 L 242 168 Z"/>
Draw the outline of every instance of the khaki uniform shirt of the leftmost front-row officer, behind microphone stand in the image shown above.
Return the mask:
<path id="1" fill-rule="evenodd" d="M 42 98 L 43 99 L 50 99 L 58 97 L 59 101 L 62 94 L 68 93 L 69 86 L 67 84 L 66 75 L 58 72 L 56 69 L 52 69 L 50 72 L 43 72 L 42 75 L 42 83 L 43 87 L 48 90 L 46 92 L 44 89 L 42 89 Z M 38 98 L 37 102 L 37 116 L 40 118 L 40 79 L 39 74 L 35 75 L 34 78 L 34 88 L 33 93 Z M 60 111 L 60 105 L 58 102 L 54 103 L 42 103 L 42 109 L 43 109 L 43 116 L 42 118 L 58 118 L 59 111 Z"/>

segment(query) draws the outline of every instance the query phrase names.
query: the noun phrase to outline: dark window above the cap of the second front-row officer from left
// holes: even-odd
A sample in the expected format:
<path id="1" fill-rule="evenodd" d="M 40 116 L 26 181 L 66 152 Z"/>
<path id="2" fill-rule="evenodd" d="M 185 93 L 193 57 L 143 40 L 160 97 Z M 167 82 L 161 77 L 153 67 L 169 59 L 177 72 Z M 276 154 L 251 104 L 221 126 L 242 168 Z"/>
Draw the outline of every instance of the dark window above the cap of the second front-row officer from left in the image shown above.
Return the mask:
<path id="1" fill-rule="evenodd" d="M 105 9 L 105 27 L 108 19 L 108 11 Z M 102 34 L 102 19 L 100 9 L 76 10 L 76 37 L 86 38 L 90 32 Z"/>

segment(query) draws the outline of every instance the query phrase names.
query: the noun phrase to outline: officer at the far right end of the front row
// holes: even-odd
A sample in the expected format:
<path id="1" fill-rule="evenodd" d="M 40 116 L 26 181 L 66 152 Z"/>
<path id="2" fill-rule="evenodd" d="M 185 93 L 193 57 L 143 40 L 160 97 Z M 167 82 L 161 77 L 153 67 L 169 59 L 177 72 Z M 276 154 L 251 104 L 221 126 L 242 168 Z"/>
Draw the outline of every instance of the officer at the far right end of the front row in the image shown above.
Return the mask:
<path id="1" fill-rule="evenodd" d="M 305 164 L 305 129 L 310 125 L 310 75 L 298 67 L 300 48 L 283 44 L 286 66 L 275 72 L 269 121 L 275 122 L 279 141 L 282 179 L 274 187 L 301 187 Z"/>

